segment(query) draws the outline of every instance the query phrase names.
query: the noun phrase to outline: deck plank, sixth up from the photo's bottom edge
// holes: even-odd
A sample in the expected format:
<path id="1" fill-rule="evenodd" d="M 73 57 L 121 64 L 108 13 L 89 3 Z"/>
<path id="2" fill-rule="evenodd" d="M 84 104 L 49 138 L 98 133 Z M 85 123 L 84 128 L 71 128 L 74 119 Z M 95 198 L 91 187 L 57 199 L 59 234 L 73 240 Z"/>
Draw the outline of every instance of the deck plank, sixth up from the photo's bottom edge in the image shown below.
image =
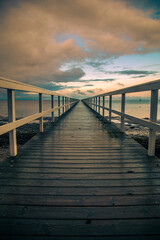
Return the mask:
<path id="1" fill-rule="evenodd" d="M 1 179 L 1 186 L 43 186 L 43 187 L 122 187 L 160 186 L 160 179 Z"/>

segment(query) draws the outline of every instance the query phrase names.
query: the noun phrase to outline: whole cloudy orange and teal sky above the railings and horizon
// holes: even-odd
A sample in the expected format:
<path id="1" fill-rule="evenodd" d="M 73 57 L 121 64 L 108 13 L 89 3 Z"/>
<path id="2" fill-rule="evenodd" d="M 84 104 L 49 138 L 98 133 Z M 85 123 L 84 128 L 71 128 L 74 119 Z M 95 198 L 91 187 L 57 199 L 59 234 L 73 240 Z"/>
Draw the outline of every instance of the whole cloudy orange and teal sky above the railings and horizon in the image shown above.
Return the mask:
<path id="1" fill-rule="evenodd" d="M 159 0 L 0 0 L 0 36 L 2 77 L 71 97 L 160 79 Z"/>

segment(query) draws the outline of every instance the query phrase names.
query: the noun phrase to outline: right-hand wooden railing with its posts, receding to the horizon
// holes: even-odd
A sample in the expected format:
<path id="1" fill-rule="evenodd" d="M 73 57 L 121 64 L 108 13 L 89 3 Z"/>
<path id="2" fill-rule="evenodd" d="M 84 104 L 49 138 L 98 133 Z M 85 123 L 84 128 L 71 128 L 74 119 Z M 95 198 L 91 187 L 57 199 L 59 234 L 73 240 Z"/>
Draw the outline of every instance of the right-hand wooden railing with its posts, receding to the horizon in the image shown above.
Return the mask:
<path id="1" fill-rule="evenodd" d="M 111 122 L 112 113 L 121 116 L 121 130 L 124 131 L 124 119 L 129 119 L 134 123 L 149 128 L 149 142 L 148 142 L 148 155 L 155 155 L 155 143 L 156 143 L 156 131 L 160 131 L 160 125 L 157 124 L 157 108 L 158 108 L 158 89 L 160 89 L 160 80 L 152 81 L 145 84 L 139 84 L 128 88 L 123 88 L 113 92 L 104 93 L 101 95 L 89 97 L 83 99 L 83 102 L 90 108 L 100 114 L 102 108 L 102 116 L 104 117 L 104 111 L 109 111 L 109 121 Z M 126 93 L 135 93 L 142 91 L 151 91 L 150 101 L 150 120 L 140 119 L 125 113 L 125 96 Z M 112 96 L 121 94 L 121 111 L 112 109 Z M 105 97 L 109 96 L 109 107 L 105 107 Z M 101 97 L 103 99 L 102 106 L 100 105 Z"/>

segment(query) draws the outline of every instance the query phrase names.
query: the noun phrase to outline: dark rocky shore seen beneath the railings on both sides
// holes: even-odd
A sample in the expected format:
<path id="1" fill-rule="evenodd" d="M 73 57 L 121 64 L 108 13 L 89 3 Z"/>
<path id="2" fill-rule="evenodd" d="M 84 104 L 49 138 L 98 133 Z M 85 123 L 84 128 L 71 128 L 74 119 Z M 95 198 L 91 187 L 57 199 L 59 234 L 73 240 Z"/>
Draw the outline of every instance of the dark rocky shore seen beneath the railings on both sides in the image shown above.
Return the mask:
<path id="1" fill-rule="evenodd" d="M 57 122 L 57 119 L 58 117 L 55 117 L 55 122 L 53 124 Z M 50 117 L 44 118 L 44 130 L 47 130 L 47 128 L 51 126 L 52 123 L 50 120 L 51 120 Z M 3 120 L 0 119 L 0 125 L 5 124 L 6 122 L 7 122 L 6 119 L 5 121 L 4 121 L 4 118 Z M 120 122 L 117 117 L 113 117 L 112 122 L 117 127 L 120 126 Z M 20 149 L 38 132 L 39 132 L 39 123 L 37 122 L 31 122 L 17 128 L 17 147 Z M 147 149 L 148 137 L 149 137 L 148 128 L 126 121 L 125 133 Z M 156 156 L 160 158 L 160 133 L 157 134 L 155 152 L 156 152 Z M 4 161 L 8 157 L 9 157 L 9 133 L 5 133 L 0 136 L 0 162 Z"/>

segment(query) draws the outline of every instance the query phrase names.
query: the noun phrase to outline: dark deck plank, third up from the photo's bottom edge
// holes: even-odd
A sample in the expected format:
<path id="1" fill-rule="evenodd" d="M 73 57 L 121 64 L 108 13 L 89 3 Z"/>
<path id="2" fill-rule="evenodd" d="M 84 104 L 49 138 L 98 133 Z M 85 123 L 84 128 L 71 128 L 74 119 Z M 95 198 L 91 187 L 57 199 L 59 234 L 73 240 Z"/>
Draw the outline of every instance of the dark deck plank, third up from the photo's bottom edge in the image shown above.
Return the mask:
<path id="1" fill-rule="evenodd" d="M 89 213 L 89 214 L 88 214 Z M 160 206 L 54 207 L 0 206 L 0 218 L 29 219 L 146 219 L 159 218 Z"/>

